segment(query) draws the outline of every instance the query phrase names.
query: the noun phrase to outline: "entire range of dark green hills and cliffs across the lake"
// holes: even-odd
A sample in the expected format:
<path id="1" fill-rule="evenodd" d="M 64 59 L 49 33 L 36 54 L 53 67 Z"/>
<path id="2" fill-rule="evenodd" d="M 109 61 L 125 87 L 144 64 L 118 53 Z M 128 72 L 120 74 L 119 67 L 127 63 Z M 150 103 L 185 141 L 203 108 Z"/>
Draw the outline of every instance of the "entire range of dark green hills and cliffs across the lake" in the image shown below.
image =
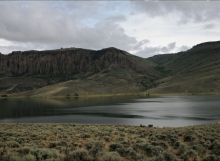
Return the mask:
<path id="1" fill-rule="evenodd" d="M 220 92 L 220 41 L 140 58 L 114 47 L 0 54 L 0 95 Z"/>

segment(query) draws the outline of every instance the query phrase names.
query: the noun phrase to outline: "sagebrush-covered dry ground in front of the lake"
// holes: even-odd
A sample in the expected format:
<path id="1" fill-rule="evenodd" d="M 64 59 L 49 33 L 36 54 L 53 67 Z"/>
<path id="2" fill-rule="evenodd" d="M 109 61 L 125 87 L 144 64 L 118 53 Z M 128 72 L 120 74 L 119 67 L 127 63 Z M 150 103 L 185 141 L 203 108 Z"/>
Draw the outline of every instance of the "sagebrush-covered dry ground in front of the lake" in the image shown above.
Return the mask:
<path id="1" fill-rule="evenodd" d="M 220 124 L 0 124 L 1 161 L 220 161 Z"/>

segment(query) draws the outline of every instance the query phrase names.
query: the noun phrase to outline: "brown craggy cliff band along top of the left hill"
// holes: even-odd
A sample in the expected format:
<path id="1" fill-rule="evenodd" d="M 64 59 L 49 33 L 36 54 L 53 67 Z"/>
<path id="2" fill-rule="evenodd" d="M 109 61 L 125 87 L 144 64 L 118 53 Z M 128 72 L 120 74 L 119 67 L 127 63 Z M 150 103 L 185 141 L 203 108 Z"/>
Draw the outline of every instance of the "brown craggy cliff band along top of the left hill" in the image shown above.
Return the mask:
<path id="1" fill-rule="evenodd" d="M 124 66 L 146 72 L 147 64 L 143 66 L 137 64 L 137 61 L 137 57 L 115 48 L 99 51 L 85 49 L 17 51 L 9 55 L 0 55 L 0 74 L 71 74 L 101 71 L 110 66 Z"/>

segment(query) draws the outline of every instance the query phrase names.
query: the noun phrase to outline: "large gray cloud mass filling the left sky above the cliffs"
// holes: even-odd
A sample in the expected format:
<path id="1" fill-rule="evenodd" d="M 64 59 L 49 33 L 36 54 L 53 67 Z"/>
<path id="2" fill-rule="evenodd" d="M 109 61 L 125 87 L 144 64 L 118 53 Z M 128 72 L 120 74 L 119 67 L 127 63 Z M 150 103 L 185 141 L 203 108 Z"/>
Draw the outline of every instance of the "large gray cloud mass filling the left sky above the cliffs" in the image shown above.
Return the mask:
<path id="1" fill-rule="evenodd" d="M 102 2 L 2 2 L 0 38 L 26 45 L 4 46 L 0 50 L 3 53 L 14 49 L 28 50 L 30 47 L 101 49 L 109 46 L 131 49 L 137 43 L 136 38 L 126 35 L 118 24 L 126 17 L 103 17 L 99 14 L 98 5 Z M 93 25 L 87 25 L 90 22 Z"/>

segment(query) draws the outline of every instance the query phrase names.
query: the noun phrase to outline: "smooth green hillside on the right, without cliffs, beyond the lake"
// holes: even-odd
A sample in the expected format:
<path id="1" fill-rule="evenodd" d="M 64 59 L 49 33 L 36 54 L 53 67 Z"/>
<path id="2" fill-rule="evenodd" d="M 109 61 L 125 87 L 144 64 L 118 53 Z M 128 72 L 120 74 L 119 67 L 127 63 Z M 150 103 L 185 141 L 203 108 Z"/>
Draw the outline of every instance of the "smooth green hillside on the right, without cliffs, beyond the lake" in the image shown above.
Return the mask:
<path id="1" fill-rule="evenodd" d="M 166 71 L 153 93 L 220 92 L 220 41 L 194 46 L 178 54 L 156 55 L 148 59 Z M 163 72 L 162 71 L 162 72 Z"/>

